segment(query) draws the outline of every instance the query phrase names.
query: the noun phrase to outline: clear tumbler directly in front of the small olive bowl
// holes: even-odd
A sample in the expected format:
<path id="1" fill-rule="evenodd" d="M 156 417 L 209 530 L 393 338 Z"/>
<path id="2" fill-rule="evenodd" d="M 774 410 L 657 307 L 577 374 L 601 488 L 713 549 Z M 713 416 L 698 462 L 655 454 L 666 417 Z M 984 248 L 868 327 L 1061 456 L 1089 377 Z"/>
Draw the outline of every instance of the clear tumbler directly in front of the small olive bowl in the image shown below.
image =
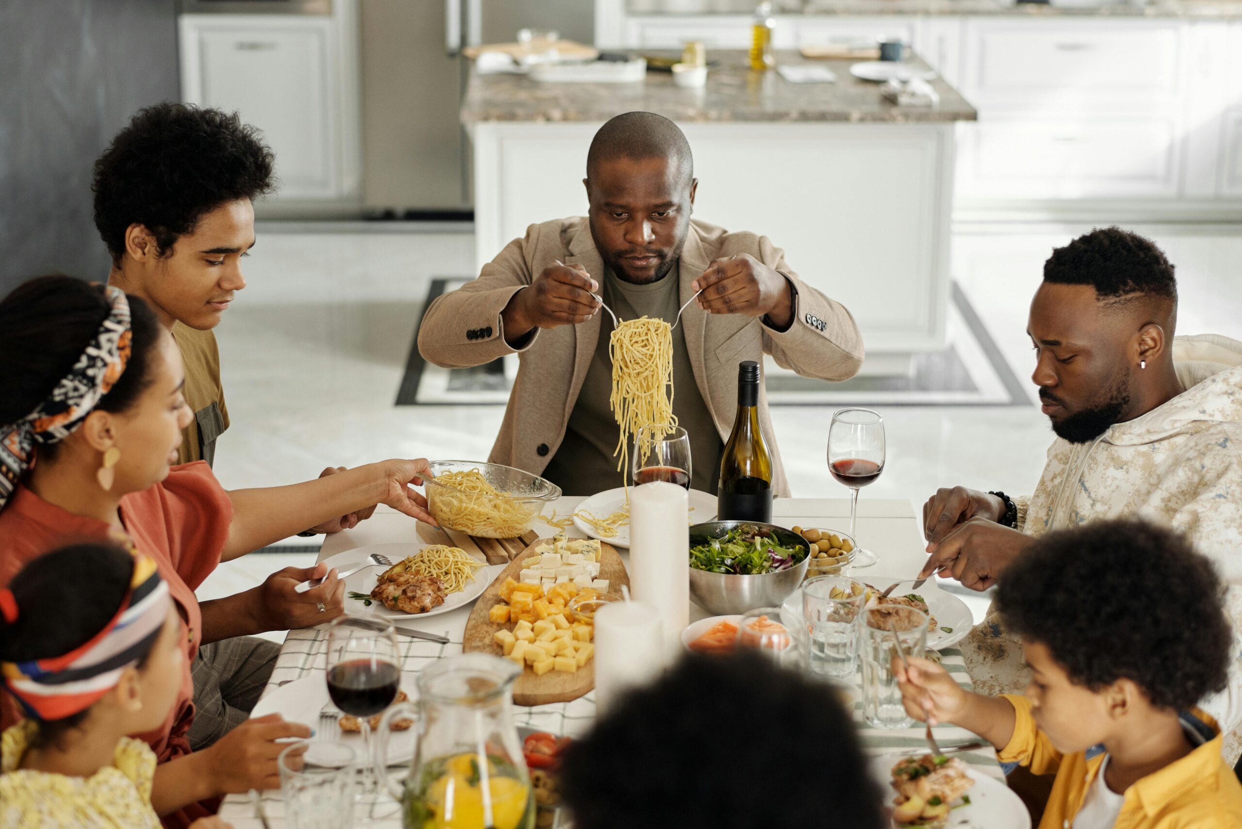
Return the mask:
<path id="1" fill-rule="evenodd" d="M 806 666 L 812 674 L 848 679 L 858 669 L 858 621 L 867 587 L 845 576 L 818 576 L 802 583 Z"/>

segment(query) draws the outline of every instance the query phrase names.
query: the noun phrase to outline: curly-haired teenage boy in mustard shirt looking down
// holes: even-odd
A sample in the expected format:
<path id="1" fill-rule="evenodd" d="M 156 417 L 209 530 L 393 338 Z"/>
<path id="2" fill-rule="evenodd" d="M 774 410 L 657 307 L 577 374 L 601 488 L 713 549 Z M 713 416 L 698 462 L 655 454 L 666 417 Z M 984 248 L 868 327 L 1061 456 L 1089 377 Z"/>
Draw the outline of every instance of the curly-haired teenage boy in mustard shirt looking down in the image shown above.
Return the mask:
<path id="1" fill-rule="evenodd" d="M 140 109 L 94 163 L 94 226 L 108 283 L 142 297 L 173 331 L 194 419 L 178 463 L 215 458 L 229 428 L 211 333 L 246 287 L 253 201 L 274 187 L 274 159 L 236 114 L 161 103 Z"/>

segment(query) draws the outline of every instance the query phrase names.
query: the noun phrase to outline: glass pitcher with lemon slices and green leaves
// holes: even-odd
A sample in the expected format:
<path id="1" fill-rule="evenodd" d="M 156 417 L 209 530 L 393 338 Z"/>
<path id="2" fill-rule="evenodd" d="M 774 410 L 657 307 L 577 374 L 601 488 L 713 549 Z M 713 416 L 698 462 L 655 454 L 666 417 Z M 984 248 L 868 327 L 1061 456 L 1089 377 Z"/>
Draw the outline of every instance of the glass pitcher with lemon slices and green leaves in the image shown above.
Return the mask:
<path id="1" fill-rule="evenodd" d="M 416 705 L 380 721 L 375 776 L 401 802 L 405 829 L 532 829 L 535 800 L 513 722 L 522 669 L 487 654 L 450 656 L 419 675 Z M 416 721 L 417 746 L 404 788 L 385 764 L 394 720 Z"/>

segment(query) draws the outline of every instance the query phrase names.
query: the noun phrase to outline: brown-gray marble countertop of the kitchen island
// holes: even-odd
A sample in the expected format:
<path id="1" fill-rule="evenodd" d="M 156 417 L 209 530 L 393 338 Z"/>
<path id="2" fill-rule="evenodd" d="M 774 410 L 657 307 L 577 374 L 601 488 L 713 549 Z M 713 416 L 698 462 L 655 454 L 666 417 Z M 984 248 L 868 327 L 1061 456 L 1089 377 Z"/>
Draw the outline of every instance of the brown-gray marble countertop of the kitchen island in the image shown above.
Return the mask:
<path id="1" fill-rule="evenodd" d="M 646 52 L 653 53 L 653 52 Z M 669 55 L 674 55 L 669 52 Z M 932 81 L 939 107 L 898 107 L 884 101 L 881 84 L 850 74 L 857 61 L 814 61 L 836 72 L 836 83 L 789 83 L 775 71 L 751 72 L 743 50 L 712 50 L 720 66 L 707 87 L 682 89 L 663 72 L 647 72 L 643 83 L 539 83 L 520 74 L 471 71 L 461 118 L 481 122 L 599 123 L 636 109 L 677 122 L 847 122 L 945 123 L 975 120 L 971 107 L 941 78 Z M 807 63 L 796 52 L 777 51 L 777 63 Z M 928 68 L 918 57 L 910 65 Z"/>

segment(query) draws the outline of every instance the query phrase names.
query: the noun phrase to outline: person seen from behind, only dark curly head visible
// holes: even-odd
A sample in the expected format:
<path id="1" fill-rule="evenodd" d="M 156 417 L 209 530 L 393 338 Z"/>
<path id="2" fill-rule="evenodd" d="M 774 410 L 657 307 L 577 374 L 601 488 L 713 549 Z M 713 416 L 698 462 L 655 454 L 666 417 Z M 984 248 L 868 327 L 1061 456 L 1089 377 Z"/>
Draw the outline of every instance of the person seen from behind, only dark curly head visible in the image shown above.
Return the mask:
<path id="1" fill-rule="evenodd" d="M 689 654 L 560 762 L 578 829 L 886 829 L 828 686 L 758 653 Z"/>

